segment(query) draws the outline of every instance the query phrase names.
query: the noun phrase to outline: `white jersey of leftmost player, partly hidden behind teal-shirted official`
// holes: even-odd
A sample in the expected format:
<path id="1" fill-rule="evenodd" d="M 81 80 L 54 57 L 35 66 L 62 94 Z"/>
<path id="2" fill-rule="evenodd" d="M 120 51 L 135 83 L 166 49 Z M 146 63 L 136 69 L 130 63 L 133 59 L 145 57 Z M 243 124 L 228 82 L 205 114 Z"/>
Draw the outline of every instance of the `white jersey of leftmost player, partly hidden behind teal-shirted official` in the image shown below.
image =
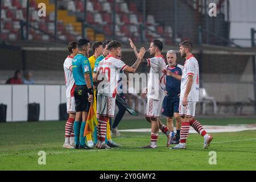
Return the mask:
<path id="1" fill-rule="evenodd" d="M 75 90 L 75 80 L 72 74 L 72 56 L 68 56 L 63 64 L 64 73 L 65 73 L 65 85 L 66 85 L 66 98 L 74 97 Z"/>

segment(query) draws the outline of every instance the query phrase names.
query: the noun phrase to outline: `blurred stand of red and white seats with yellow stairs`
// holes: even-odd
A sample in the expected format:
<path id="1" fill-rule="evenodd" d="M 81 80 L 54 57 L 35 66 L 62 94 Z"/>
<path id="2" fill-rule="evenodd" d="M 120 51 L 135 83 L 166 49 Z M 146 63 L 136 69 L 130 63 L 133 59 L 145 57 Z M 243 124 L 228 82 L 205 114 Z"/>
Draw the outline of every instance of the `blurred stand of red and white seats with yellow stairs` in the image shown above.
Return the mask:
<path id="1" fill-rule="evenodd" d="M 38 4 L 45 3 L 47 6 L 46 17 L 38 16 Z M 116 1 L 115 6 L 115 36 L 121 40 L 131 37 L 141 40 L 142 13 L 137 10 L 134 2 Z M 104 40 L 105 36 L 113 35 L 113 1 L 111 0 L 88 0 L 86 2 L 86 20 L 89 28 L 86 28 L 86 36 L 90 40 Z M 49 41 L 48 34 L 53 35 L 55 31 L 55 4 L 51 0 L 30 1 L 30 24 L 32 27 L 44 31 L 40 32 L 30 28 L 29 40 Z M 2 40 L 20 40 L 20 20 L 26 20 L 27 0 L 3 0 L 2 1 Z M 84 20 L 84 1 L 64 0 L 58 1 L 57 10 L 57 36 L 58 38 L 71 41 L 81 38 L 82 20 Z M 92 27 L 91 27 L 92 26 Z M 170 41 L 172 31 L 170 27 L 159 26 L 153 15 L 146 18 L 146 40 L 161 38 Z M 102 34 L 103 33 L 103 34 Z"/>

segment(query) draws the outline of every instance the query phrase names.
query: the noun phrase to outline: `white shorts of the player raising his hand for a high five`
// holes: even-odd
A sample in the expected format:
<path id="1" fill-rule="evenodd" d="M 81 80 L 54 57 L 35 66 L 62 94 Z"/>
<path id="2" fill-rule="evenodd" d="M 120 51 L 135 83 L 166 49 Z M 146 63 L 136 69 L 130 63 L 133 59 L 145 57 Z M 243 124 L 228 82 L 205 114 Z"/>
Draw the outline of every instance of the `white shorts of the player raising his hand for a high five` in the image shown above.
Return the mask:
<path id="1" fill-rule="evenodd" d="M 162 113 L 162 100 L 152 100 L 148 98 L 146 105 L 146 117 L 158 118 Z"/>

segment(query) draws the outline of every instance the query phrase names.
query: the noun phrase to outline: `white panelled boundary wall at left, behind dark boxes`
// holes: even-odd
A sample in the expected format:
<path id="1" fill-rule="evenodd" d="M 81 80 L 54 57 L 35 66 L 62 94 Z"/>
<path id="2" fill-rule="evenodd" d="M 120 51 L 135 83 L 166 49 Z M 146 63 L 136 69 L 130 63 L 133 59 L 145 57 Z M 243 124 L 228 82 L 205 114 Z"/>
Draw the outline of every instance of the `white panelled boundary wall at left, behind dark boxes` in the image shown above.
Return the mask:
<path id="1" fill-rule="evenodd" d="M 65 85 L 0 85 L 0 104 L 7 105 L 7 122 L 27 121 L 28 104 L 40 104 L 39 121 L 59 120 L 66 103 Z"/>

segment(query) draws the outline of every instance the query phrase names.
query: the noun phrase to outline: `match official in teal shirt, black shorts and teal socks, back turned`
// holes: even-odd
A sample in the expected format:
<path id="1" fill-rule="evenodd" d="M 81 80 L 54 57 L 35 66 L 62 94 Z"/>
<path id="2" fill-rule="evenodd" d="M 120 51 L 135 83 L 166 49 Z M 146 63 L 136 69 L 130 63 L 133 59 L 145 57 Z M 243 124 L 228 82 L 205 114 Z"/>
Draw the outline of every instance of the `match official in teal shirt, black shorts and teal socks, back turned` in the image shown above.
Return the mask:
<path id="1" fill-rule="evenodd" d="M 73 77 L 76 83 L 74 93 L 76 103 L 76 118 L 74 122 L 75 148 L 88 150 L 90 147 L 85 144 L 84 129 L 90 105 L 93 104 L 92 69 L 88 60 L 90 51 L 89 40 L 80 39 L 78 48 L 79 53 L 77 53 L 72 61 Z"/>

